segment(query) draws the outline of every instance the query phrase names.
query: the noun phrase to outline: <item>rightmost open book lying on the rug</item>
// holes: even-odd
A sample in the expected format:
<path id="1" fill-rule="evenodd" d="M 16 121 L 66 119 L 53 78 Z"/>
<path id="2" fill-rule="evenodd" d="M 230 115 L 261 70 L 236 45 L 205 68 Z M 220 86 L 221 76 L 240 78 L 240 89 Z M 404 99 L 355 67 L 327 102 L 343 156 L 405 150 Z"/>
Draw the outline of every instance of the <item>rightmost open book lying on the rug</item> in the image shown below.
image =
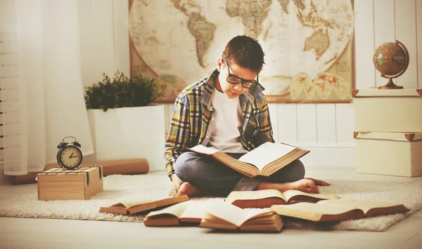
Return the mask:
<path id="1" fill-rule="evenodd" d="M 274 205 L 271 210 L 279 215 L 311 220 L 314 222 L 335 222 L 356 220 L 377 215 L 392 215 L 409 211 L 402 204 L 368 201 L 354 198 L 319 201 L 317 203 L 295 203 Z"/>

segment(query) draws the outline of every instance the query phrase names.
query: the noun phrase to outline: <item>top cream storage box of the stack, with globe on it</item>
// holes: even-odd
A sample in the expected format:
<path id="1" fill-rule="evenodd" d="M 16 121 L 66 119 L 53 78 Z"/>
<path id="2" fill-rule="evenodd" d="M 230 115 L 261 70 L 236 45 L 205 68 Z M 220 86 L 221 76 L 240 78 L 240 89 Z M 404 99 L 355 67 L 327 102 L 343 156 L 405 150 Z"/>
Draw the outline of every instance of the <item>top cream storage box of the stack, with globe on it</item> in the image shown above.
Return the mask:
<path id="1" fill-rule="evenodd" d="M 422 133 L 422 89 L 352 90 L 357 132 Z"/>

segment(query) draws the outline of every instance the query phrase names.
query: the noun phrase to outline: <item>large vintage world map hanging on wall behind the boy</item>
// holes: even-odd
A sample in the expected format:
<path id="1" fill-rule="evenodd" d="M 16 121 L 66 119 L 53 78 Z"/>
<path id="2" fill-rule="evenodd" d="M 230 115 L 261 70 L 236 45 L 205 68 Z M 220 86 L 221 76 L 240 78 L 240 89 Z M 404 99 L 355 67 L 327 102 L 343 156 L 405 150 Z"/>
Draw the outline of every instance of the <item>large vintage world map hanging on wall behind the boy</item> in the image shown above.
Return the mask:
<path id="1" fill-rule="evenodd" d="M 345 100 L 352 65 L 340 59 L 353 17 L 350 0 L 133 0 L 129 34 L 144 64 L 137 69 L 167 84 L 163 99 L 209 75 L 226 43 L 245 34 L 265 52 L 266 95 Z"/>

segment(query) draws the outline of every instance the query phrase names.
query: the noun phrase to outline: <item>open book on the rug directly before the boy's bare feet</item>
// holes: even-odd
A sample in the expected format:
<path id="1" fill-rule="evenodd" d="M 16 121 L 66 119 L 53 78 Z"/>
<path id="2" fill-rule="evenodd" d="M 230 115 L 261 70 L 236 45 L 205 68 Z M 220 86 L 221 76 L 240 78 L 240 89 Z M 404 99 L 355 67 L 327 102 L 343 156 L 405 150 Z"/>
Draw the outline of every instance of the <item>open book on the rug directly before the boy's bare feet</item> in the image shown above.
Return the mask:
<path id="1" fill-rule="evenodd" d="M 256 191 L 231 191 L 226 203 L 239 208 L 270 208 L 273 205 L 286 205 L 298 202 L 316 203 L 321 200 L 338 199 L 335 194 L 310 194 L 300 190 L 281 191 L 264 189 Z"/>

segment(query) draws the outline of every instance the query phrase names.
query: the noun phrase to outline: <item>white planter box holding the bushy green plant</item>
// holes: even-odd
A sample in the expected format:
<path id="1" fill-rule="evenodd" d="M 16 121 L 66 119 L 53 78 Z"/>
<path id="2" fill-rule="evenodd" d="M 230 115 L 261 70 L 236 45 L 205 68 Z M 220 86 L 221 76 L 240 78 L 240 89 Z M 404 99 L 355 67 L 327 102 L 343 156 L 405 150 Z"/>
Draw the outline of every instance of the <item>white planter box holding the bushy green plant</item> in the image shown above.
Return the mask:
<path id="1" fill-rule="evenodd" d="M 165 170 L 164 106 L 89 109 L 96 160 L 148 160 L 150 171 Z"/>

